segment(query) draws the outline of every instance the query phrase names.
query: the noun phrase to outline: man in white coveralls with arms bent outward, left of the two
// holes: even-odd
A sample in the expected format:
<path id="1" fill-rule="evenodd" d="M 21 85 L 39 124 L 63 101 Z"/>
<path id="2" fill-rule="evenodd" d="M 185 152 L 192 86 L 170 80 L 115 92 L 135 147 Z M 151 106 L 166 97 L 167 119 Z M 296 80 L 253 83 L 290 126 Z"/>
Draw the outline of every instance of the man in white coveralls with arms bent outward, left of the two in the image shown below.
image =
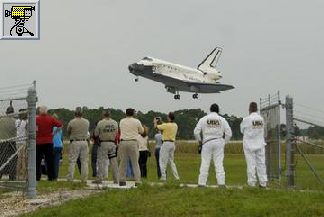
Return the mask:
<path id="1" fill-rule="evenodd" d="M 210 113 L 202 117 L 195 129 L 194 135 L 202 144 L 201 164 L 198 177 L 198 186 L 204 187 L 207 184 L 210 161 L 213 158 L 216 180 L 219 187 L 225 187 L 225 170 L 223 166 L 224 147 L 232 137 L 232 130 L 225 118 L 218 115 L 218 105 L 210 106 Z"/>

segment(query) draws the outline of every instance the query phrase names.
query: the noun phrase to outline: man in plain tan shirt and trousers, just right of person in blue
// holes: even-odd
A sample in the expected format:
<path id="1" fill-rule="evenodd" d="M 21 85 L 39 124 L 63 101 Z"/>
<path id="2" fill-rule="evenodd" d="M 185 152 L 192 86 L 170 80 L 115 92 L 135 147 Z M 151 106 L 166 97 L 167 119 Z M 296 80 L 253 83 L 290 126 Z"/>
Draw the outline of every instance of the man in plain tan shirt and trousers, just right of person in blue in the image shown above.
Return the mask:
<path id="1" fill-rule="evenodd" d="M 67 135 L 70 138 L 68 181 L 73 181 L 75 163 L 78 157 L 81 161 L 81 181 L 86 182 L 88 179 L 89 126 L 89 121 L 82 117 L 81 107 L 77 107 L 74 112 L 74 119 L 67 126 Z"/>

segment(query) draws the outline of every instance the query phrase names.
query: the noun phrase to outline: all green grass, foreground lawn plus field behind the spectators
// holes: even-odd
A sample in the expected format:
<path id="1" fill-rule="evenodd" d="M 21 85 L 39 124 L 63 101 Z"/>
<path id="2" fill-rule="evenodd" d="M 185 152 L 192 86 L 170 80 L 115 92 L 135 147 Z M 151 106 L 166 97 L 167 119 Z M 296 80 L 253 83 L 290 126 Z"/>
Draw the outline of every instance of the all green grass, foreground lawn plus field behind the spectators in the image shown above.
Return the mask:
<path id="1" fill-rule="evenodd" d="M 196 146 L 178 145 L 175 162 L 181 183 L 197 183 L 200 155 Z M 240 146 L 232 146 L 239 152 Z M 324 178 L 324 155 L 308 155 Z M 282 159 L 284 164 L 284 156 Z M 270 183 L 268 190 L 246 186 L 246 166 L 242 154 L 225 154 L 226 184 L 243 186 L 243 190 L 214 188 L 181 188 L 172 178 L 164 186 L 157 182 L 154 156 L 148 160 L 148 178 L 131 190 L 106 190 L 86 199 L 69 201 L 62 206 L 40 209 L 24 216 L 324 216 L 324 186 L 310 172 L 304 160 L 296 158 L 296 190 L 287 190 L 285 176 Z M 284 167 L 284 165 L 282 165 Z M 67 159 L 60 176 L 67 174 Z M 79 174 L 76 170 L 76 178 Z M 90 174 L 90 173 L 89 173 Z M 169 174 L 171 172 L 169 171 Z M 111 172 L 110 172 L 111 175 Z M 109 176 L 111 180 L 111 176 Z M 208 184 L 216 184 L 211 165 Z M 58 189 L 80 189 L 84 185 L 69 182 L 41 181 L 39 192 Z"/>

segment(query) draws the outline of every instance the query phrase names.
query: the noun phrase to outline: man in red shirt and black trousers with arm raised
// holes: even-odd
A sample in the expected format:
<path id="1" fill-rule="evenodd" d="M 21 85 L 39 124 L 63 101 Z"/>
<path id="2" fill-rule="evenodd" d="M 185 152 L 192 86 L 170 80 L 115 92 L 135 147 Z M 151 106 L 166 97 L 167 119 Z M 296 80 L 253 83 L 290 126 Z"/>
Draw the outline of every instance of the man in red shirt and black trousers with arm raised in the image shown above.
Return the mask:
<path id="1" fill-rule="evenodd" d="M 36 117 L 36 180 L 42 176 L 41 162 L 45 157 L 48 180 L 54 180 L 53 127 L 62 127 L 62 123 L 47 114 L 47 107 L 39 107 Z"/>

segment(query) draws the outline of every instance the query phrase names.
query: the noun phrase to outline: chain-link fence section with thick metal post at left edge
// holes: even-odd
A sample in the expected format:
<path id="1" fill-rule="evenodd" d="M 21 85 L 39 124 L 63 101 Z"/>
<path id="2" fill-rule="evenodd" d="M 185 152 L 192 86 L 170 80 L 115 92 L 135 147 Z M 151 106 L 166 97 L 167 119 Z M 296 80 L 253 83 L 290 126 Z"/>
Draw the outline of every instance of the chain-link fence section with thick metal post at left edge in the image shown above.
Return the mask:
<path id="1" fill-rule="evenodd" d="M 36 196 L 33 179 L 36 90 L 33 84 L 0 88 L 0 190 Z M 30 165 L 31 164 L 31 165 Z M 31 184 L 35 185 L 30 191 Z"/>

